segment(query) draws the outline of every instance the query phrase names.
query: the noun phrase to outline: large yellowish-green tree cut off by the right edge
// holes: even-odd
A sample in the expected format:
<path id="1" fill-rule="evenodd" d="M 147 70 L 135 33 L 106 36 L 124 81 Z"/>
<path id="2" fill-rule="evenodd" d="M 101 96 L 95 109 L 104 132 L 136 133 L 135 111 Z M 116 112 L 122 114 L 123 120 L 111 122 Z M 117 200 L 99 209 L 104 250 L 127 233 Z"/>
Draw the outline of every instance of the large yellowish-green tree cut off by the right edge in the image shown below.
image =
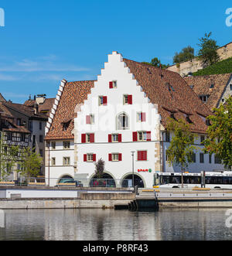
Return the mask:
<path id="1" fill-rule="evenodd" d="M 210 115 L 210 127 L 207 130 L 205 151 L 215 154 L 221 160 L 225 169 L 232 167 L 232 97 L 229 97 L 220 108 L 215 108 Z"/>

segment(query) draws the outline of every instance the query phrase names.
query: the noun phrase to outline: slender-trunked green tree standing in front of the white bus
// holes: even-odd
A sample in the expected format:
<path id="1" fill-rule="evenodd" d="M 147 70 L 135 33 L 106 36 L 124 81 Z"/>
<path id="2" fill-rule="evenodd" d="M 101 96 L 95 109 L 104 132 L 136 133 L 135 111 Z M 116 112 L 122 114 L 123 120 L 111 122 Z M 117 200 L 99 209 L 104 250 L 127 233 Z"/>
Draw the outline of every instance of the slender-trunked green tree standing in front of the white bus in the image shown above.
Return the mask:
<path id="1" fill-rule="evenodd" d="M 196 149 L 194 146 L 194 135 L 190 130 L 190 125 L 186 124 L 183 119 L 176 121 L 169 119 L 167 130 L 172 132 L 172 141 L 167 149 L 167 157 L 169 165 L 177 165 L 181 167 L 182 187 L 183 187 L 183 171 L 189 166 L 189 162 L 193 162 L 193 153 Z"/>

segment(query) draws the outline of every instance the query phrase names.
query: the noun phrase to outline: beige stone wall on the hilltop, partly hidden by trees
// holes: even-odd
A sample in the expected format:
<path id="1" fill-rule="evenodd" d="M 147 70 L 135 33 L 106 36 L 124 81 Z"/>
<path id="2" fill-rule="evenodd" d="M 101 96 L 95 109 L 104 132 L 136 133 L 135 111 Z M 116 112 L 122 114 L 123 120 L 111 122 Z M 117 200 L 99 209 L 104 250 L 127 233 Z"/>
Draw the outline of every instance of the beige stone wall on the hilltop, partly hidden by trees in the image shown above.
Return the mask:
<path id="1" fill-rule="evenodd" d="M 232 57 L 232 42 L 220 47 L 217 50 L 217 53 L 220 56 L 220 60 L 227 60 Z M 171 67 L 168 67 L 167 70 L 179 73 L 182 77 L 186 77 L 189 73 L 194 73 L 198 70 L 202 70 L 203 68 L 201 61 L 195 58 L 193 60 L 172 65 Z"/>

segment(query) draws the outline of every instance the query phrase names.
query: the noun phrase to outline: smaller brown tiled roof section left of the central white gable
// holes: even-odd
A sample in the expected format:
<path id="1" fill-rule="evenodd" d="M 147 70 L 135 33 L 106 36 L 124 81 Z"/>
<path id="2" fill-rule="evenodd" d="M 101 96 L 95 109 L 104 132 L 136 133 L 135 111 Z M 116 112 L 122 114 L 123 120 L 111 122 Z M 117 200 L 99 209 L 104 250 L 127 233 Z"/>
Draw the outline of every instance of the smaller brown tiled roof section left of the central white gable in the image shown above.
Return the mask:
<path id="1" fill-rule="evenodd" d="M 46 140 L 73 139 L 74 110 L 77 104 L 84 104 L 94 80 L 67 82 L 63 87 L 60 101 L 54 114 L 51 126 L 46 134 Z M 63 131 L 63 123 L 69 123 L 67 130 Z"/>

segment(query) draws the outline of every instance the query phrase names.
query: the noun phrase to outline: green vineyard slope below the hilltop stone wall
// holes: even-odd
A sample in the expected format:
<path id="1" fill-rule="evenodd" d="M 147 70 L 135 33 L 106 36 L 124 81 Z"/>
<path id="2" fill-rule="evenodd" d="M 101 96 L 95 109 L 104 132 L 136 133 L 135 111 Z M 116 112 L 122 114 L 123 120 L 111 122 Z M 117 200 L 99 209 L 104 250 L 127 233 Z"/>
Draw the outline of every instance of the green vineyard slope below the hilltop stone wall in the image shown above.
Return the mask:
<path id="1" fill-rule="evenodd" d="M 206 76 L 220 73 L 232 73 L 232 58 L 222 60 L 218 63 L 213 64 L 210 67 L 199 70 L 196 73 L 193 73 L 193 76 Z"/>

